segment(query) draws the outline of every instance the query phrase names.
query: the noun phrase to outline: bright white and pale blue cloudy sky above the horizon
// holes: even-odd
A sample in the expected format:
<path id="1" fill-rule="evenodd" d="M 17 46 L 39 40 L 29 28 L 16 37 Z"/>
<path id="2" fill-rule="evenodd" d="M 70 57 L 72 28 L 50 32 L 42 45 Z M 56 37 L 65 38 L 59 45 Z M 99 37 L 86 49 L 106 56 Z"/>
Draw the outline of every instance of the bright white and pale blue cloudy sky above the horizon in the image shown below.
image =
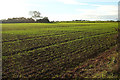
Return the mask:
<path id="1" fill-rule="evenodd" d="M 0 0 L 0 19 L 31 17 L 39 11 L 50 21 L 116 20 L 119 0 Z"/>

